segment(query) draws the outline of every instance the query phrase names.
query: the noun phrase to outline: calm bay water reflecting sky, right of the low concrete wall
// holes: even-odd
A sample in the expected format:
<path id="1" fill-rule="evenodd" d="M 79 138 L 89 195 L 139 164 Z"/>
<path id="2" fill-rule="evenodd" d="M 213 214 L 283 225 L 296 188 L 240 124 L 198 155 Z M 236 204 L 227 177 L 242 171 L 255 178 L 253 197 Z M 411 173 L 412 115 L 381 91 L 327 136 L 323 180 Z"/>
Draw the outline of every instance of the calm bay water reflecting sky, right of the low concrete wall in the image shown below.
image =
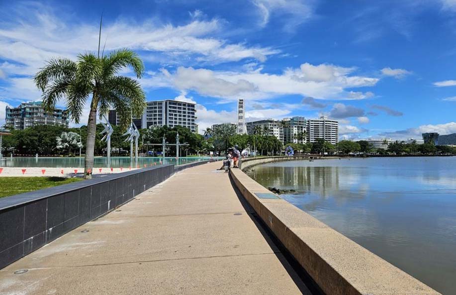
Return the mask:
<path id="1" fill-rule="evenodd" d="M 444 295 L 456 294 L 456 157 L 256 166 L 265 187 Z"/>

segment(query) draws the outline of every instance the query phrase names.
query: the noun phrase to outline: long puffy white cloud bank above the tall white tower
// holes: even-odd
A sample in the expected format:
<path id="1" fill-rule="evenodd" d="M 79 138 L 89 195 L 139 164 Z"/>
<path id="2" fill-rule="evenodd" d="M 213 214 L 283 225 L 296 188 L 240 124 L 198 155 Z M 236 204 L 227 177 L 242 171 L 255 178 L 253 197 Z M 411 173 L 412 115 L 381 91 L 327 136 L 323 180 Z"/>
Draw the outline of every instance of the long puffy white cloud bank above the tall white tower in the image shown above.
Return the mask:
<path id="1" fill-rule="evenodd" d="M 371 92 L 346 92 L 346 88 L 374 86 L 377 78 L 350 75 L 355 68 L 334 65 L 302 64 L 288 68 L 282 74 L 262 73 L 261 70 L 228 72 L 179 67 L 171 74 L 163 71 L 179 90 L 193 90 L 204 96 L 237 99 L 264 99 L 281 95 L 302 95 L 319 99 L 364 99 Z"/>

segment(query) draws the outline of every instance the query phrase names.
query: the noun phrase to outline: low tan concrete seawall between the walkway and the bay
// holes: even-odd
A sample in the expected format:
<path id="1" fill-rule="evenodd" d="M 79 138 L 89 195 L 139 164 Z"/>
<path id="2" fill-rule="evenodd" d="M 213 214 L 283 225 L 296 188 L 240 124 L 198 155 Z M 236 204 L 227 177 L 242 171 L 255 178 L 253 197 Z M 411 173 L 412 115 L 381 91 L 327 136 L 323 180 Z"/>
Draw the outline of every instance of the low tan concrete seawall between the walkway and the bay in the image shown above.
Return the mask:
<path id="1" fill-rule="evenodd" d="M 272 193 L 241 170 L 232 169 L 230 177 L 325 294 L 440 295 L 287 201 L 258 197 Z"/>

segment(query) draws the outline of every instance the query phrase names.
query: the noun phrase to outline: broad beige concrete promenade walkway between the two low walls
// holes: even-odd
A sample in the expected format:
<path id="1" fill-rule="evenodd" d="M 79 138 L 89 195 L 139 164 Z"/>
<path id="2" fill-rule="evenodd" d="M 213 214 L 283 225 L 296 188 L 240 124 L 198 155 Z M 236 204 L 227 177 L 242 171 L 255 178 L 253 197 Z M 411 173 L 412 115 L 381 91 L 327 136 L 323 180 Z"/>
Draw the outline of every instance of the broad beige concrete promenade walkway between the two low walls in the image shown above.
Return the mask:
<path id="1" fill-rule="evenodd" d="M 220 165 L 184 170 L 7 266 L 0 295 L 310 294 Z"/>

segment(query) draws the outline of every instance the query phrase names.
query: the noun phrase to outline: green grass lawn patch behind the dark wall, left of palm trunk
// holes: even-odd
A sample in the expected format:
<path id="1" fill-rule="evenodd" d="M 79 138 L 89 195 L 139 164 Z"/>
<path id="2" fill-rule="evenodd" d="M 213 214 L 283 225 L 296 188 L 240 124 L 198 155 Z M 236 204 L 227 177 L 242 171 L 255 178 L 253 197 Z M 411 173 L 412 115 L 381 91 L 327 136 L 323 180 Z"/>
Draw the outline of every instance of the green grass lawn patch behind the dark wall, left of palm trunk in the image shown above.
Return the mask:
<path id="1" fill-rule="evenodd" d="M 0 197 L 27 193 L 81 181 L 64 177 L 0 177 Z"/>

